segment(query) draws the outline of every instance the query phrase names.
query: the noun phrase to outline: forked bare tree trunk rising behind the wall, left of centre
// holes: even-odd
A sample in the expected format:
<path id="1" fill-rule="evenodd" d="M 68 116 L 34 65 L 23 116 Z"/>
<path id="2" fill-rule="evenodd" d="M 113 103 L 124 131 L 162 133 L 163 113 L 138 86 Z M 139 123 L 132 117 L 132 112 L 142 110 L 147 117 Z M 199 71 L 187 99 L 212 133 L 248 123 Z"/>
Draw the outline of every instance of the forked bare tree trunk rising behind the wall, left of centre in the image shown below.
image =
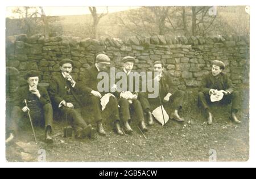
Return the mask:
<path id="1" fill-rule="evenodd" d="M 96 7 L 89 7 L 90 13 L 92 14 L 93 17 L 93 35 L 94 39 L 100 39 L 100 35 L 98 32 L 98 23 L 100 22 L 100 19 L 103 18 L 104 16 L 109 14 L 109 9 L 106 7 L 107 12 L 106 13 L 101 13 L 100 15 L 97 14 L 97 8 Z"/>

